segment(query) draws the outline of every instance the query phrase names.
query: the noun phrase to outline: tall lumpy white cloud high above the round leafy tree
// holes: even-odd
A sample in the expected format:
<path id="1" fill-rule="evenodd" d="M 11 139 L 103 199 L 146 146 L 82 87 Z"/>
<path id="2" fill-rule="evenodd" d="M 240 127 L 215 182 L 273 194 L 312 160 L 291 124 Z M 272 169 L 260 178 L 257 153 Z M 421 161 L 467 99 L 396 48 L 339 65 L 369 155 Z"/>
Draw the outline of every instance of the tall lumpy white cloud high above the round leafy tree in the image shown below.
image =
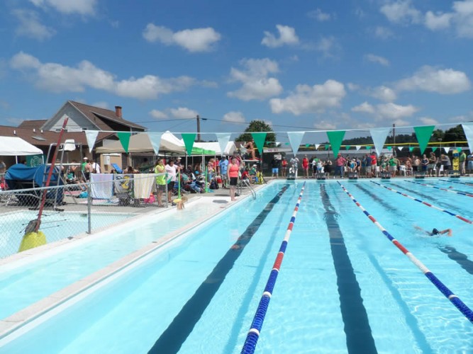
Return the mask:
<path id="1" fill-rule="evenodd" d="M 278 79 L 267 77 L 269 74 L 279 72 L 277 62 L 270 59 L 243 59 L 240 64 L 243 70 L 231 68 L 232 81 L 240 81 L 243 86 L 227 93 L 229 97 L 240 98 L 243 101 L 264 100 L 277 96 L 282 92 Z"/>

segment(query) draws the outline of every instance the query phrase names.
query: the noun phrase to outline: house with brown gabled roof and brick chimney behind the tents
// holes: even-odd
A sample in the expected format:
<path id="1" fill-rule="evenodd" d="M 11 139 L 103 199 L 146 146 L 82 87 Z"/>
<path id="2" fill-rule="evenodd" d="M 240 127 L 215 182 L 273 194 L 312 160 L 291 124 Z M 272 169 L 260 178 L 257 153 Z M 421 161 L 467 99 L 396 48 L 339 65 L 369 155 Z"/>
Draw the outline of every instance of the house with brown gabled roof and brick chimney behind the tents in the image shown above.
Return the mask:
<path id="1" fill-rule="evenodd" d="M 62 107 L 48 120 L 25 120 L 21 122 L 18 127 L 0 126 L 0 135 L 7 137 L 21 137 L 35 147 L 43 150 L 43 153 L 48 154 L 50 144 L 57 143 L 59 132 L 66 117 L 69 117 L 67 122 L 66 132 L 63 135 L 62 141 L 73 139 L 77 147 L 76 150 L 70 152 L 67 156 L 69 161 L 81 161 L 83 156 L 88 156 L 89 159 L 94 159 L 99 162 L 99 156 L 94 152 L 89 154 L 89 147 L 87 146 L 87 138 L 84 130 L 99 130 L 96 143 L 94 147 L 101 147 L 111 141 L 116 141 L 118 137 L 115 131 L 123 132 L 145 132 L 146 128 L 142 125 L 125 120 L 122 117 L 121 106 L 116 106 L 115 110 L 107 110 L 105 108 L 94 107 L 93 105 L 86 105 L 75 101 L 67 101 Z M 126 166 L 126 156 L 118 156 L 114 161 L 119 166 Z M 123 159 L 123 161 L 122 161 Z M 13 164 L 13 161 L 6 161 L 7 166 Z M 104 169 L 103 161 L 101 167 Z"/>

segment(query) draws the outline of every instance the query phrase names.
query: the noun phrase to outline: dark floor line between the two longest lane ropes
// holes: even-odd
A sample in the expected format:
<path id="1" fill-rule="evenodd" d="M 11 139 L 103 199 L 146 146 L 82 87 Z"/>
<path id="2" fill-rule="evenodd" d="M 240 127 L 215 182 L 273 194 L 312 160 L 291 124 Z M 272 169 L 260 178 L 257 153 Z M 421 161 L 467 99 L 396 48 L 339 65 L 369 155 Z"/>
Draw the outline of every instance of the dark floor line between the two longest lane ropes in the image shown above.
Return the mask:
<path id="1" fill-rule="evenodd" d="M 321 199 L 325 208 L 330 251 L 332 253 L 335 274 L 337 275 L 340 312 L 342 314 L 348 353 L 377 353 L 376 344 L 369 326 L 368 314 L 363 304 L 360 285 L 355 270 L 348 256 L 345 239 L 338 225 L 337 215 L 330 202 L 325 185 L 321 184 Z"/>

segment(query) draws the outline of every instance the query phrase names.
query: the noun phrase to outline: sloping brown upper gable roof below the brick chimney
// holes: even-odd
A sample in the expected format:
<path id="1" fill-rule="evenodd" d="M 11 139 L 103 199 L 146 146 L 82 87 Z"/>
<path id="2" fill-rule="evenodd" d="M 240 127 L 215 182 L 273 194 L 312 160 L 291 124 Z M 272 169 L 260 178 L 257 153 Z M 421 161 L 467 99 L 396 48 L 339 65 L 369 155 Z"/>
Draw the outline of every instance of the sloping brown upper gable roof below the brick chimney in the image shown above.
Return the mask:
<path id="1" fill-rule="evenodd" d="M 100 130 L 116 130 L 112 129 L 111 125 L 120 124 L 127 127 L 132 127 L 137 130 L 146 130 L 146 127 L 139 125 L 129 120 L 124 120 L 123 118 L 118 117 L 114 110 L 107 110 L 105 108 L 94 107 L 93 105 L 85 105 L 84 103 L 79 103 L 75 101 L 68 101 L 71 105 L 77 108 L 82 114 L 84 114 L 91 122 L 99 127 Z"/>

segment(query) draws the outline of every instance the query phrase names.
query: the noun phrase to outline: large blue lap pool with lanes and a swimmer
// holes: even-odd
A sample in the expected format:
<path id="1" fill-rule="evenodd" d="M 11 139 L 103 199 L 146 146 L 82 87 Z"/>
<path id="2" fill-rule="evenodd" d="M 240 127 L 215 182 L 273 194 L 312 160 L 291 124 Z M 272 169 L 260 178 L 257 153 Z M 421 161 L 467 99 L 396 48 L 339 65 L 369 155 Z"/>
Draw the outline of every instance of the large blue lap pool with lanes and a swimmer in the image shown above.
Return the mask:
<path id="1" fill-rule="evenodd" d="M 401 180 L 377 182 L 473 219 L 467 196 Z M 450 181 L 425 183 L 472 190 Z M 44 324 L 16 340 L 4 338 L 0 351 L 239 352 L 301 185 L 268 185 L 257 200 L 238 203 L 143 258 Z M 345 180 L 343 185 L 473 307 L 472 224 L 370 181 Z M 415 225 L 450 227 L 454 236 L 430 237 Z M 147 237 L 145 230 L 141 234 Z M 308 181 L 257 352 L 445 353 L 471 348 L 473 325 L 340 185 Z"/>

